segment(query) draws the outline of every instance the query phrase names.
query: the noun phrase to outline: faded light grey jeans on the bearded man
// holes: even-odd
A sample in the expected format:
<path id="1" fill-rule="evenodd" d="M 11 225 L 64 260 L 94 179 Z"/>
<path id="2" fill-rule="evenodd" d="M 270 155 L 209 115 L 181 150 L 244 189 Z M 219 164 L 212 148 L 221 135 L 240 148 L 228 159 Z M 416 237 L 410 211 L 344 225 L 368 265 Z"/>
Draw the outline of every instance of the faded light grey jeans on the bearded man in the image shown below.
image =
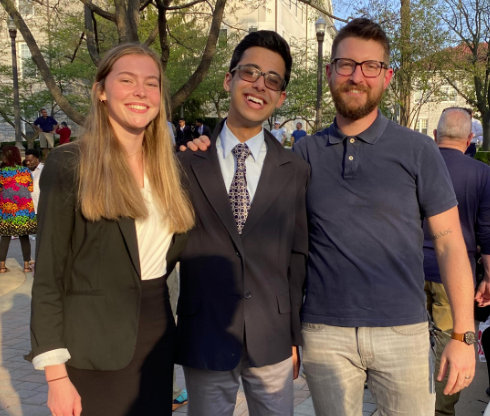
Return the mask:
<path id="1" fill-rule="evenodd" d="M 380 416 L 434 416 L 427 322 L 386 328 L 303 323 L 303 337 L 317 416 L 361 416 L 366 379 Z"/>

